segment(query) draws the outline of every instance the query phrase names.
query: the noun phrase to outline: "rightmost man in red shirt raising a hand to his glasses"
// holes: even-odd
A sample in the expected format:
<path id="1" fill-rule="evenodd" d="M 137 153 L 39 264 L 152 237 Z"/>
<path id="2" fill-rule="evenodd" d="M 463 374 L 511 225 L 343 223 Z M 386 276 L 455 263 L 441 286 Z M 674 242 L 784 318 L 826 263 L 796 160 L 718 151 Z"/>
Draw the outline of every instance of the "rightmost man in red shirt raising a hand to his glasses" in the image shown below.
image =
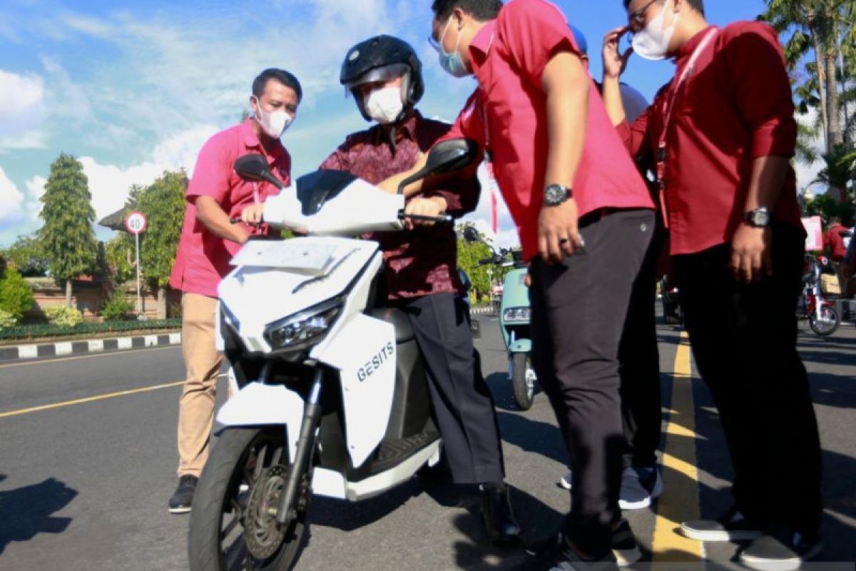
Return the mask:
<path id="1" fill-rule="evenodd" d="M 796 122 L 776 32 L 722 29 L 702 0 L 624 0 L 629 26 L 603 41 L 603 98 L 633 155 L 654 152 L 672 264 L 698 372 L 734 463 L 734 506 L 687 521 L 690 538 L 754 538 L 740 561 L 795 568 L 820 550 L 820 443 L 796 349 L 805 232 Z M 674 58 L 675 78 L 627 125 L 618 80 L 631 50 Z"/>

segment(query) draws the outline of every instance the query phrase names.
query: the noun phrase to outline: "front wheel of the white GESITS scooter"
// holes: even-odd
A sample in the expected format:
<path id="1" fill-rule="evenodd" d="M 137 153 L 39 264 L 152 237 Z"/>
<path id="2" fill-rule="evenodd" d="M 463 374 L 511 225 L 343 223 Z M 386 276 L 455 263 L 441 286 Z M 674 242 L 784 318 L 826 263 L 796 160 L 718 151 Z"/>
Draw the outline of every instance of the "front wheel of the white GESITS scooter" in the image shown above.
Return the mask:
<path id="1" fill-rule="evenodd" d="M 288 479 L 288 449 L 282 426 L 228 428 L 211 450 L 199 478 L 190 515 L 191 571 L 294 567 L 306 539 L 308 479 L 304 479 L 288 525 L 276 508 Z"/>

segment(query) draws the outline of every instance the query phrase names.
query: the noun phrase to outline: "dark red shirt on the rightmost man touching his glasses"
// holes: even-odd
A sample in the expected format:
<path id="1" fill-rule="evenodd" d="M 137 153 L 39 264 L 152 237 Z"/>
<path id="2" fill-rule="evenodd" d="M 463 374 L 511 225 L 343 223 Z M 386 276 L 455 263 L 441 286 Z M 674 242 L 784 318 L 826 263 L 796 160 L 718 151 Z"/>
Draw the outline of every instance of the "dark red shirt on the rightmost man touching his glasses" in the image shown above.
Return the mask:
<path id="1" fill-rule="evenodd" d="M 681 46 L 675 76 L 708 29 Z M 618 126 L 633 156 L 659 146 L 672 89 L 672 82 L 663 86 L 632 127 L 626 122 Z M 796 134 L 791 86 L 776 32 L 750 21 L 722 28 L 675 99 L 666 138 L 671 252 L 696 253 L 730 241 L 743 220 L 752 160 L 793 157 Z M 802 228 L 792 169 L 773 219 Z"/>

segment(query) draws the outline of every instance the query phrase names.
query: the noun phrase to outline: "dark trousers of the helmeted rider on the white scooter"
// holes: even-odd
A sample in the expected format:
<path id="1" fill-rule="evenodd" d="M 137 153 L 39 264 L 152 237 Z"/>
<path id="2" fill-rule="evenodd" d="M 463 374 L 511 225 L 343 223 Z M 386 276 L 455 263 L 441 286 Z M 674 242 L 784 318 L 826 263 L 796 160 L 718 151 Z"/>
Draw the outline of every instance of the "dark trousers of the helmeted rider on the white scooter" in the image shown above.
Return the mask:
<path id="1" fill-rule="evenodd" d="M 493 397 L 473 347 L 467 304 L 455 294 L 396 302 L 410 317 L 455 484 L 505 479 Z"/>

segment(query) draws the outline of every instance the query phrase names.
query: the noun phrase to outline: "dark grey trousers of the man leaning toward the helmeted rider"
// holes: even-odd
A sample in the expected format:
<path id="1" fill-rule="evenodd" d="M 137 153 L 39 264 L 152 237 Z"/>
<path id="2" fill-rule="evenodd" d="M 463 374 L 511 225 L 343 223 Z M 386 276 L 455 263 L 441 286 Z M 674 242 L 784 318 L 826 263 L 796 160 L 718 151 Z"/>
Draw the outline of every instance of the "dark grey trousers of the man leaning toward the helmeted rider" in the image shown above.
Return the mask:
<path id="1" fill-rule="evenodd" d="M 574 485 L 564 532 L 593 556 L 620 517 L 618 345 L 633 281 L 654 231 L 648 210 L 580 220 L 586 246 L 562 264 L 532 261 L 532 366 L 562 430 Z"/>

